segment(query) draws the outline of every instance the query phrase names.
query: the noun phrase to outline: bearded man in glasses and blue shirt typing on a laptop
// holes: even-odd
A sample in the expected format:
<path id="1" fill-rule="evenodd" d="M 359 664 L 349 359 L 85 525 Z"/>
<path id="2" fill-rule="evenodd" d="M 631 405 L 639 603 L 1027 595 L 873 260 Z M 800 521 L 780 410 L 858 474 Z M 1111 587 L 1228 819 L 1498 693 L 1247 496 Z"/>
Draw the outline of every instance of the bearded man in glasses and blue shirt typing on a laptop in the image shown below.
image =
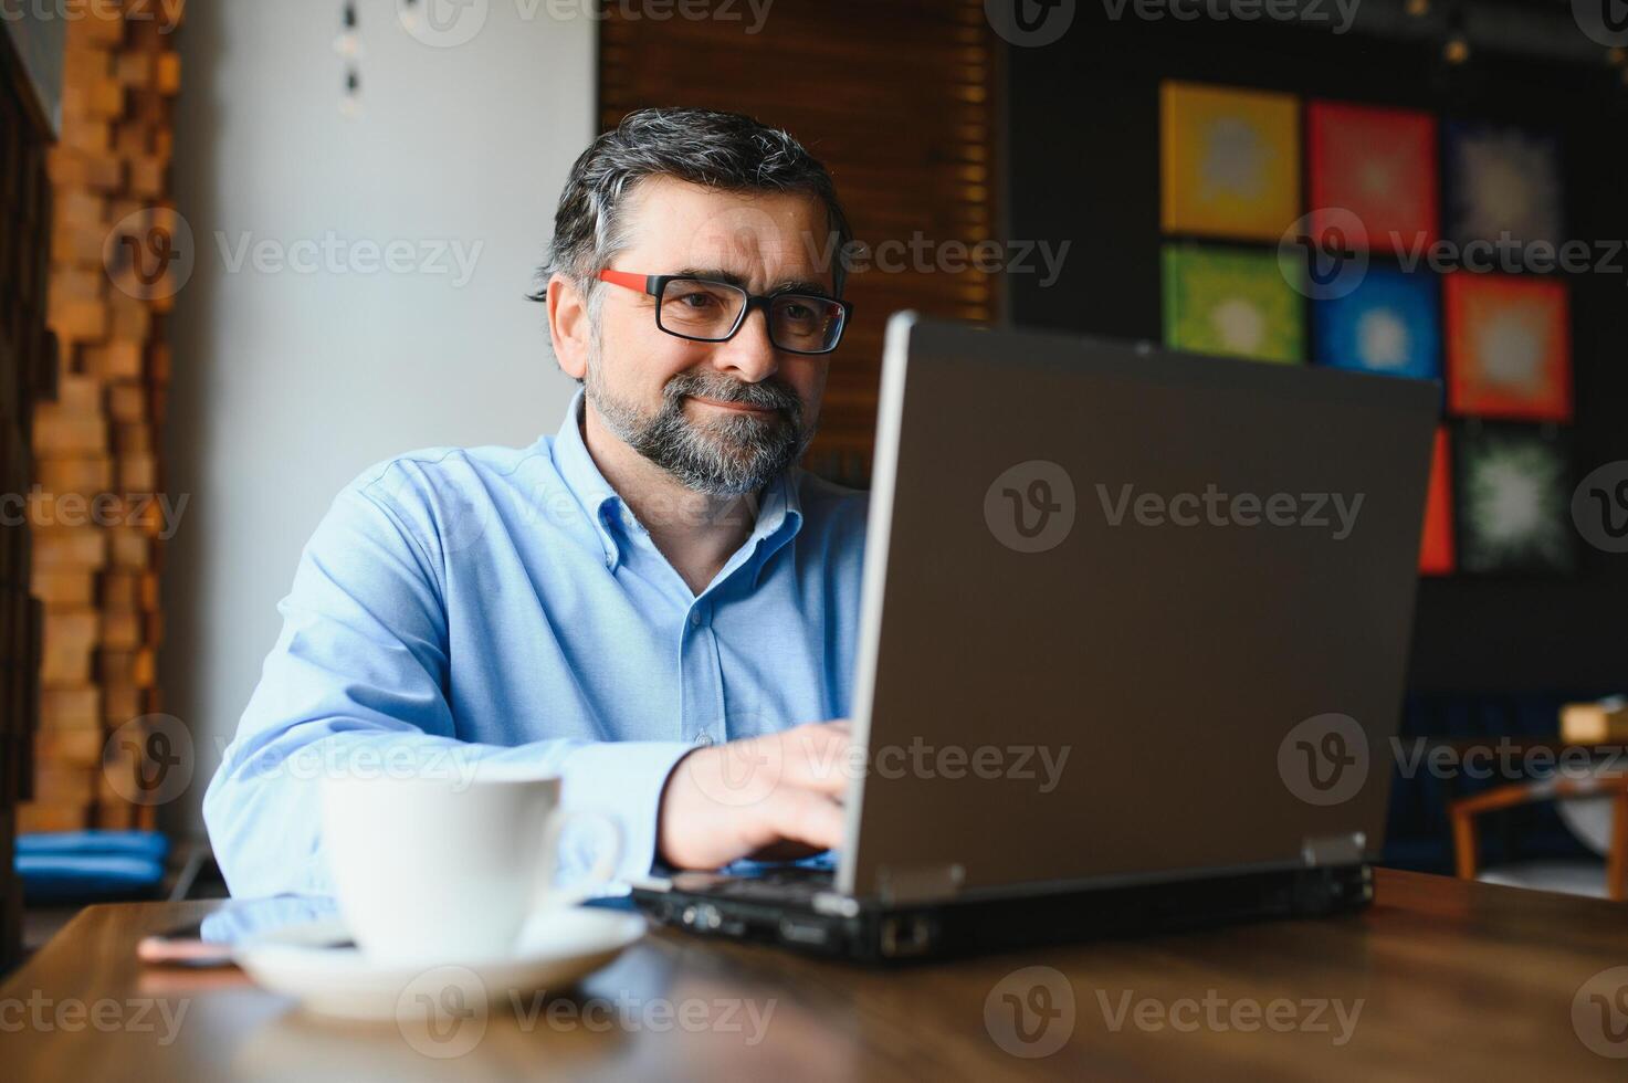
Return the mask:
<path id="1" fill-rule="evenodd" d="M 534 298 L 581 389 L 527 448 L 339 493 L 205 795 L 233 894 L 330 891 L 316 787 L 363 761 L 557 772 L 620 821 L 622 879 L 838 844 L 864 498 L 798 461 L 848 238 L 825 168 L 749 117 L 594 140 Z M 742 764 L 773 785 L 731 800 Z"/>

